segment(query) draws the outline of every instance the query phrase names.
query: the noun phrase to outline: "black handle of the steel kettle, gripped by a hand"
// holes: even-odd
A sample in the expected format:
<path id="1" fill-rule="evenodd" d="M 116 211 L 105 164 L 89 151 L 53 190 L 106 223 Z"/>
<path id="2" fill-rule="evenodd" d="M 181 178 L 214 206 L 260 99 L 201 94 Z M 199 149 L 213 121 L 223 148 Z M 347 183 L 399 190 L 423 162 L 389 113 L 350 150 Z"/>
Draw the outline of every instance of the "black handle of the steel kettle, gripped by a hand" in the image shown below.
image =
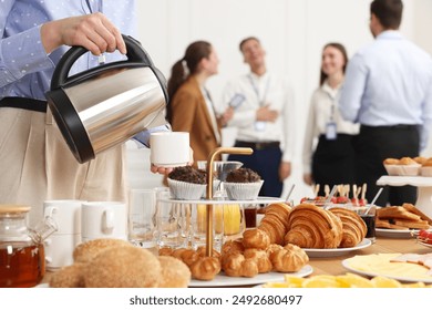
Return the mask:
<path id="1" fill-rule="evenodd" d="M 142 48 L 140 41 L 133 39 L 130 35 L 122 34 L 124 43 L 126 44 L 126 56 L 127 62 L 137 62 L 143 65 L 153 66 L 152 59 L 147 52 Z M 89 52 L 83 46 L 72 46 L 68 52 L 60 59 L 58 65 L 55 66 L 54 73 L 51 79 L 51 90 L 59 89 L 61 85 L 66 83 L 69 71 L 75 61 Z"/>

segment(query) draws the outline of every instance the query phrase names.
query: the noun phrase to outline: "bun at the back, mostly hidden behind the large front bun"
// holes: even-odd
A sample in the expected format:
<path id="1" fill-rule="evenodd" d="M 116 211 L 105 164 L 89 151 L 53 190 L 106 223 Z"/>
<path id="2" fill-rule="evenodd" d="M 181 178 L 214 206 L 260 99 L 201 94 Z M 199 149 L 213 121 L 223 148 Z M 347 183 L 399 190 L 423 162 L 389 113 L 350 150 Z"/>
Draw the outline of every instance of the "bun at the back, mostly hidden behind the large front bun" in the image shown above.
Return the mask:
<path id="1" fill-rule="evenodd" d="M 101 251 L 114 247 L 132 247 L 132 245 L 121 239 L 94 239 L 80 244 L 73 250 L 73 261 L 89 262 Z"/>

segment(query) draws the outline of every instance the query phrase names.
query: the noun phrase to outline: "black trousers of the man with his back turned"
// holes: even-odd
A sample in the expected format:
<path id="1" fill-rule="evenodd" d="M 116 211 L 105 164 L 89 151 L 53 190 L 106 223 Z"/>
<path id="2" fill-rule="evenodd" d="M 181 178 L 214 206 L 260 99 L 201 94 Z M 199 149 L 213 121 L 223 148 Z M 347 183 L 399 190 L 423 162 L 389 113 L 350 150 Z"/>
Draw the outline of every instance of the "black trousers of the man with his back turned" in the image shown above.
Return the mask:
<path id="1" fill-rule="evenodd" d="M 383 161 L 419 156 L 420 135 L 415 125 L 364 126 L 353 141 L 356 151 L 357 184 L 368 185 L 367 199 L 371 202 L 379 190 L 377 180 L 387 175 Z M 415 204 L 416 187 L 384 186 L 376 205 L 400 206 L 403 203 Z"/>

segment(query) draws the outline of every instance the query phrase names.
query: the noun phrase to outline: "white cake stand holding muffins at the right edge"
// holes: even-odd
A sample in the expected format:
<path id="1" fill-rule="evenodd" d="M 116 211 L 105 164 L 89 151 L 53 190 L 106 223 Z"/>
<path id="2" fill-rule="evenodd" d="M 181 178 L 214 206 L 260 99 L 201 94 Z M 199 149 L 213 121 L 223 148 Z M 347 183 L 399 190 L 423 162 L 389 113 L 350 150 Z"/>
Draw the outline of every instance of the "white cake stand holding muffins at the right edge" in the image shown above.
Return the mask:
<path id="1" fill-rule="evenodd" d="M 419 192 L 415 207 L 422 213 L 424 213 L 426 216 L 432 217 L 432 177 L 384 175 L 377 180 L 377 185 L 416 186 Z"/>

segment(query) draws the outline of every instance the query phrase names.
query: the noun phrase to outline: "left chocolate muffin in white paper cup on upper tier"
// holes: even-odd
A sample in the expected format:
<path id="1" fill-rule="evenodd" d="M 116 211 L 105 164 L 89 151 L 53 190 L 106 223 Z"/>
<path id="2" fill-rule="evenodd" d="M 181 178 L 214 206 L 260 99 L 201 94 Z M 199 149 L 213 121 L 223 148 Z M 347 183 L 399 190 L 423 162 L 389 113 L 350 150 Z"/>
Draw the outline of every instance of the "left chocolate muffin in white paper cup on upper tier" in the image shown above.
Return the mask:
<path id="1" fill-rule="evenodd" d="M 168 187 L 175 199 L 199 199 L 206 190 L 207 173 L 192 166 L 175 167 L 168 174 Z"/>

